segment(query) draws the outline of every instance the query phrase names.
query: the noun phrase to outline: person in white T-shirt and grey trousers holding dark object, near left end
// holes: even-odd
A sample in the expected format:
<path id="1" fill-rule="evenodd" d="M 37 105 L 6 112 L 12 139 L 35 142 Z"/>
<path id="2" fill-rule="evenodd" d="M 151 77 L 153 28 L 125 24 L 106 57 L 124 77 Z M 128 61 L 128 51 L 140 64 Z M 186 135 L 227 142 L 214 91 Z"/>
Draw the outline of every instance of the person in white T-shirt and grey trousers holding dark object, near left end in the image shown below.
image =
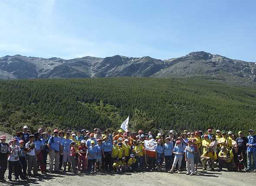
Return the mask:
<path id="1" fill-rule="evenodd" d="M 32 171 L 32 167 L 33 167 L 33 174 L 34 176 L 38 176 L 37 173 L 37 158 L 36 158 L 36 152 L 35 152 L 35 136 L 34 135 L 30 135 L 29 136 L 29 141 L 26 143 L 25 147 L 27 150 L 27 164 L 28 164 L 28 176 L 32 176 L 31 171 Z"/>

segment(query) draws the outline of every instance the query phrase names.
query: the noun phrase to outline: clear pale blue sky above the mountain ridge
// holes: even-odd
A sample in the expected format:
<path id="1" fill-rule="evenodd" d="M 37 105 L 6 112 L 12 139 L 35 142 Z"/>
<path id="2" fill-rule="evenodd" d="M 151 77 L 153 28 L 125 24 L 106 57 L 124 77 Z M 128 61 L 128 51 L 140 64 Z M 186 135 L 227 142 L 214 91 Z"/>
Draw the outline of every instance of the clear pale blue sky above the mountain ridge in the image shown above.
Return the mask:
<path id="1" fill-rule="evenodd" d="M 0 0 L 0 56 L 256 62 L 256 0 Z"/>

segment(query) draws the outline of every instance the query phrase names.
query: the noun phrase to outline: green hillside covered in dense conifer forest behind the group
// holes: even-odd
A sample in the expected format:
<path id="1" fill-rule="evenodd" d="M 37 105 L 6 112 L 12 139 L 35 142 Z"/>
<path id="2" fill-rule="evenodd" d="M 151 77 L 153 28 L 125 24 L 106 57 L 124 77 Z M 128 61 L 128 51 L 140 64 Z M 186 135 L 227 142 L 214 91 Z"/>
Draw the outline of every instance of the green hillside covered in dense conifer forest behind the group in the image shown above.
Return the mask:
<path id="1" fill-rule="evenodd" d="M 128 115 L 150 121 L 147 130 L 256 129 L 256 88 L 201 78 L 0 81 L 0 131 L 118 128 Z"/>

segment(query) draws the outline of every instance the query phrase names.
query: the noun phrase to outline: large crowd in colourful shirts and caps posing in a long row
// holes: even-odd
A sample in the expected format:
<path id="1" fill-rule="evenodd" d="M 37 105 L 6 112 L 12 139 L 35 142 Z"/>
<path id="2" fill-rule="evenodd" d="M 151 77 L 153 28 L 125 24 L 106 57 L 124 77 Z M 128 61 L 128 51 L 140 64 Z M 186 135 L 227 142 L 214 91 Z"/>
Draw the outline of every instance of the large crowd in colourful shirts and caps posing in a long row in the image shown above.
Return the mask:
<path id="1" fill-rule="evenodd" d="M 0 181 L 8 166 L 8 180 L 28 179 L 46 173 L 70 172 L 76 174 L 98 172 L 165 171 L 197 175 L 202 170 L 253 171 L 256 170 L 256 136 L 249 130 L 247 137 L 238 137 L 229 131 L 208 129 L 154 135 L 151 131 L 138 133 L 118 130 L 101 131 L 44 131 L 39 128 L 31 134 L 28 126 L 7 141 L 0 140 Z M 154 149 L 146 147 L 155 144 Z M 152 145 L 151 145 L 152 147 Z M 47 164 L 49 169 L 47 170 Z M 200 165 L 200 166 L 199 166 Z M 32 174 L 33 173 L 33 174 Z"/>

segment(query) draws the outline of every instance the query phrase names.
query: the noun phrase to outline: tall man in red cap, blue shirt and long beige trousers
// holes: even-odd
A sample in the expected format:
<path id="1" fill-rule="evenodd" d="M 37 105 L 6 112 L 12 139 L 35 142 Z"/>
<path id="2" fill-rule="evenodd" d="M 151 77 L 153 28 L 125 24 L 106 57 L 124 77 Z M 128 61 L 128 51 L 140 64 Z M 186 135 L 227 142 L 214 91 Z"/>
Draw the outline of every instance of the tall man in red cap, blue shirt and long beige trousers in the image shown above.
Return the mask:
<path id="1" fill-rule="evenodd" d="M 61 148 L 61 139 L 59 137 L 59 131 L 55 129 L 53 131 L 54 135 L 49 138 L 48 148 L 49 148 L 49 173 L 53 173 L 53 163 L 54 172 L 59 173 L 59 154 Z"/>

